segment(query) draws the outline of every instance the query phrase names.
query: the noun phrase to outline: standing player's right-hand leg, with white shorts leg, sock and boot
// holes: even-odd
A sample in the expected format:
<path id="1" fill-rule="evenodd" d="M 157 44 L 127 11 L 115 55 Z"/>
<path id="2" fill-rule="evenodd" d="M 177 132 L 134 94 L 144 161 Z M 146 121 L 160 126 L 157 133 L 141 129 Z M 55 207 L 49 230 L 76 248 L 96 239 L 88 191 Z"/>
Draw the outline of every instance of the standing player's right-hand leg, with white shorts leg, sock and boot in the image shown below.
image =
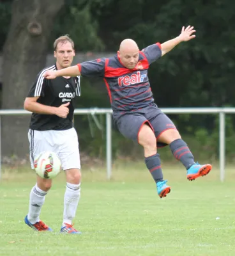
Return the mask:
<path id="1" fill-rule="evenodd" d="M 80 154 L 79 141 L 75 129 L 63 131 L 64 141 L 58 150 L 61 166 L 66 175 L 66 190 L 64 193 L 64 213 L 61 232 L 81 234 L 73 228 L 73 218 L 77 212 L 80 200 Z"/>

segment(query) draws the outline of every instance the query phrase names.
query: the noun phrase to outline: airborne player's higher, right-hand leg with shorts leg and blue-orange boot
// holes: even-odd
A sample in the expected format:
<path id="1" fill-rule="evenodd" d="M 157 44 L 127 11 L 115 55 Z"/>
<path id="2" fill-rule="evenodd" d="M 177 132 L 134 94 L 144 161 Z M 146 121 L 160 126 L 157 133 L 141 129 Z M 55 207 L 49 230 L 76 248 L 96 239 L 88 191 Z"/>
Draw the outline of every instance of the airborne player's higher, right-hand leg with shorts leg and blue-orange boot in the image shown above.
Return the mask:
<path id="1" fill-rule="evenodd" d="M 188 145 L 181 139 L 171 119 L 162 113 L 160 109 L 153 109 L 155 116 L 151 118 L 151 125 L 155 129 L 158 147 L 169 145 L 173 156 L 181 161 L 187 170 L 187 179 L 194 180 L 197 177 L 207 175 L 211 171 L 211 164 L 195 163 L 194 157 Z M 151 111 L 149 110 L 149 115 Z"/>

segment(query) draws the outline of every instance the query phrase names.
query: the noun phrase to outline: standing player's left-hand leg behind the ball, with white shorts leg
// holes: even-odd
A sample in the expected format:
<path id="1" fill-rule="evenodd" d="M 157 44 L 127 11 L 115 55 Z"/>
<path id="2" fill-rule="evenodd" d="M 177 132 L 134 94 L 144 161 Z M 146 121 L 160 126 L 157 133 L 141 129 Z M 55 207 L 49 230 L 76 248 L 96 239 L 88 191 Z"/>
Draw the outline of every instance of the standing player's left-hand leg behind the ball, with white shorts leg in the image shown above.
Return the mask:
<path id="1" fill-rule="evenodd" d="M 29 146 L 30 146 L 30 161 L 31 168 L 34 169 L 34 159 L 40 152 L 46 150 L 52 150 L 47 141 L 44 140 L 42 133 L 40 131 L 29 131 Z M 53 150 L 52 150 L 53 151 Z M 36 177 L 36 184 L 31 189 L 29 195 L 29 212 L 24 218 L 25 223 L 37 231 L 51 231 L 43 221 L 40 220 L 40 212 L 42 205 L 45 201 L 45 196 L 52 186 L 52 180 L 42 179 L 41 177 Z"/>

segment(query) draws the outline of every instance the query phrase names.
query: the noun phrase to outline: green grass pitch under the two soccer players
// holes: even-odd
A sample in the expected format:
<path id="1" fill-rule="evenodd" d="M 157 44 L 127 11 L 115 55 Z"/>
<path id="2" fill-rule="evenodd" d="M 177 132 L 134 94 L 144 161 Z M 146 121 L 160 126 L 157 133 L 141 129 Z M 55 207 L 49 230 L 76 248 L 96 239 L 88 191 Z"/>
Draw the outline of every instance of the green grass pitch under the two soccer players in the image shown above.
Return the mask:
<path id="1" fill-rule="evenodd" d="M 143 164 L 114 165 L 109 182 L 105 170 L 84 170 L 74 220 L 80 236 L 59 234 L 63 173 L 41 214 L 54 232 L 39 233 L 24 224 L 34 175 L 8 170 L 0 184 L 0 255 L 234 256 L 235 171 L 227 170 L 223 183 L 216 168 L 189 182 L 176 166 L 165 167 L 172 191 L 163 199 Z"/>

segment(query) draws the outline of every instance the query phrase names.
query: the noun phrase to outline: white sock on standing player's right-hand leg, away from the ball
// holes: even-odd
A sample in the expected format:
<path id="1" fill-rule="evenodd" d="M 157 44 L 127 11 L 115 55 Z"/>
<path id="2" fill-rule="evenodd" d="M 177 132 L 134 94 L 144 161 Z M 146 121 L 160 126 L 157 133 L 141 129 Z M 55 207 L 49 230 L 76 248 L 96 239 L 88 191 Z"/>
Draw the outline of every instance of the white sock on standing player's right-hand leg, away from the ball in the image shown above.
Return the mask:
<path id="1" fill-rule="evenodd" d="M 80 199 L 80 184 L 71 184 L 67 182 L 66 191 L 64 194 L 64 216 L 62 227 L 64 223 L 72 224 L 77 211 L 77 205 Z"/>

